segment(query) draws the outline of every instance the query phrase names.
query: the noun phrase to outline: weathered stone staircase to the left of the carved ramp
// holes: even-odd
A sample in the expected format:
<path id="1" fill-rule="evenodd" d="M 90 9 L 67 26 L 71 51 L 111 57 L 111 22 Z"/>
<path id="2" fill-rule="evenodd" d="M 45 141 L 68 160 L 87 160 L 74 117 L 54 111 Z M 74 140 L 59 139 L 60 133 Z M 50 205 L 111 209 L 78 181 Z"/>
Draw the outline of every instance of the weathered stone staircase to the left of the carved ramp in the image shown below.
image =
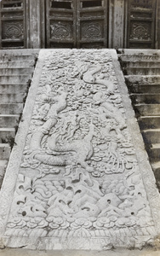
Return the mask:
<path id="1" fill-rule="evenodd" d="M 0 187 L 14 145 L 38 49 L 0 50 Z"/>

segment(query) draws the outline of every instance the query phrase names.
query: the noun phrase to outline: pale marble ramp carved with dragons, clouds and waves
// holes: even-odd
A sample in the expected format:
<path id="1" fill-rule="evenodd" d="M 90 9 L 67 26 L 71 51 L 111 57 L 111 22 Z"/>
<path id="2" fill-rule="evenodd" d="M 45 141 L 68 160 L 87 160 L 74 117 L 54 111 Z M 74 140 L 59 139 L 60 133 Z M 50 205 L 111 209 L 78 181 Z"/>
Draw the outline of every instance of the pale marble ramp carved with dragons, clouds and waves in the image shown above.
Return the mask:
<path id="1" fill-rule="evenodd" d="M 115 50 L 41 50 L 0 201 L 2 247 L 154 243 L 159 195 Z"/>

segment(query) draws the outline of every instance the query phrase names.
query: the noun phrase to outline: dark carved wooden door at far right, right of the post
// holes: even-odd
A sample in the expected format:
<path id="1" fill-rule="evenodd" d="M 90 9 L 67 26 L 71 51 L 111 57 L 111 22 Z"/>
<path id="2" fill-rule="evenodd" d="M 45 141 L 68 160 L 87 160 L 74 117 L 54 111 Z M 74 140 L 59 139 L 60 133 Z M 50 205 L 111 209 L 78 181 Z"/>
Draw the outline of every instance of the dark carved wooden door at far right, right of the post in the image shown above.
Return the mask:
<path id="1" fill-rule="evenodd" d="M 154 48 L 156 0 L 129 0 L 128 48 Z"/>

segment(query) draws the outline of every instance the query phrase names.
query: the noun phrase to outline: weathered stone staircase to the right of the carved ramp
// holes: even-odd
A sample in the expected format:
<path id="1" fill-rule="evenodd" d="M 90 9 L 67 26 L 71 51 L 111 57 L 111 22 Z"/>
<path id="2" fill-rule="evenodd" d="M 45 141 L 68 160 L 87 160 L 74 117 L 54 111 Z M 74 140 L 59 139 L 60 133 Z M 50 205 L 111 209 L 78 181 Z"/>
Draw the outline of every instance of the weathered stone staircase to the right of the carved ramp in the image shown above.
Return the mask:
<path id="1" fill-rule="evenodd" d="M 117 53 L 160 191 L 160 50 Z"/>

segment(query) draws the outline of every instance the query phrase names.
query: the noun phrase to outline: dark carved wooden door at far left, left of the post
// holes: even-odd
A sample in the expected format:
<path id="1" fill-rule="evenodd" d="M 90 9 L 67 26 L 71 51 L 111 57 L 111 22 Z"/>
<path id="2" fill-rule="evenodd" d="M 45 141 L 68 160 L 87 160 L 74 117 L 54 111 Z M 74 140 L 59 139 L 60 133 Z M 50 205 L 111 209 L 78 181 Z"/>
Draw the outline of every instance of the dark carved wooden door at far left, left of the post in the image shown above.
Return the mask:
<path id="1" fill-rule="evenodd" d="M 26 48 L 26 1 L 0 2 L 0 48 Z"/>

